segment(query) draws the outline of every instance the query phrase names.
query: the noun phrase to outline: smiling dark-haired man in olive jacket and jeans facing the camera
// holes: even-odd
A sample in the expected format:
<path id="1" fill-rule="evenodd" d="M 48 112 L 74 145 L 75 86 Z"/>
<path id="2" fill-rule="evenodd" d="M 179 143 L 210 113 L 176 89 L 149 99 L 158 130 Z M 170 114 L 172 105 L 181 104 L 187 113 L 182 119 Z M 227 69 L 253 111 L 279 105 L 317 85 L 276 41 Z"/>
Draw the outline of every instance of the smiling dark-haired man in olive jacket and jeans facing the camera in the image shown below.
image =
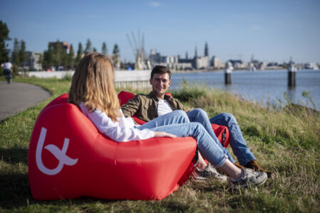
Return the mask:
<path id="1" fill-rule="evenodd" d="M 190 122 L 199 122 L 205 127 L 205 129 L 207 129 L 207 132 L 212 136 L 220 148 L 222 148 L 224 154 L 227 155 L 234 165 L 237 165 L 239 168 L 252 168 L 256 171 L 263 171 L 266 172 L 268 176 L 272 175 L 272 172 L 264 170 L 257 164 L 257 159 L 254 157 L 253 153 L 248 148 L 247 143 L 244 141 L 237 124 L 237 120 L 232 114 L 222 113 L 209 119 L 207 113 L 202 109 L 193 109 L 188 111 L 178 99 L 165 95 L 171 84 L 170 78 L 171 72 L 167 67 L 155 66 L 150 77 L 150 84 L 153 87 L 153 91 L 150 92 L 150 94 L 138 94 L 133 97 L 133 99 L 130 99 L 126 104 L 123 104 L 123 106 L 121 106 L 123 114 L 125 116 L 133 116 L 135 114 L 143 121 L 150 121 L 158 116 L 167 114 L 170 111 L 182 109 L 187 112 Z M 227 148 L 222 147 L 217 136 L 215 136 L 215 132 L 212 130 L 211 124 L 227 126 L 229 130 L 229 144 L 234 155 L 236 155 L 239 160 L 239 164 L 232 159 Z M 218 180 L 224 181 L 225 178 L 222 178 L 214 168 L 207 165 L 201 158 L 201 155 L 199 155 L 199 159 L 199 163 L 195 170 L 196 178 L 207 179 L 207 176 L 213 176 Z"/>

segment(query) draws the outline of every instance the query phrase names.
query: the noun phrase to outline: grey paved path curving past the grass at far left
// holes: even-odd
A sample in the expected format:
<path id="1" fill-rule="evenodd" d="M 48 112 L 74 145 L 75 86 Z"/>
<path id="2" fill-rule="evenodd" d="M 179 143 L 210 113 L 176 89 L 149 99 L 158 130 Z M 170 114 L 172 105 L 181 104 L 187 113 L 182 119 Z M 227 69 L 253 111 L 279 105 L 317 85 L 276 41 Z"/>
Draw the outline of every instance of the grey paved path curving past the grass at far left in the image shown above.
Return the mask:
<path id="1" fill-rule="evenodd" d="M 7 84 L 0 81 L 0 121 L 36 105 L 50 96 L 49 92 L 36 85 L 20 82 Z"/>

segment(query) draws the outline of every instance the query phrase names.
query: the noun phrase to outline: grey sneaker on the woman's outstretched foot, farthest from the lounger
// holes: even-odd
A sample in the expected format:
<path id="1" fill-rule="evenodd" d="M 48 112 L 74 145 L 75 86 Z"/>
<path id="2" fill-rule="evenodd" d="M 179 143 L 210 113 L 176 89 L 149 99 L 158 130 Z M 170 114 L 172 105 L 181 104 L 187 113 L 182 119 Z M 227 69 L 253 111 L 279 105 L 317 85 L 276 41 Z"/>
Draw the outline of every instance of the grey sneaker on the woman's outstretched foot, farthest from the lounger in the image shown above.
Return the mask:
<path id="1" fill-rule="evenodd" d="M 249 185 L 259 186 L 264 184 L 268 178 L 267 173 L 254 172 L 252 169 L 242 169 L 241 177 L 237 180 L 229 178 L 229 182 L 232 188 L 237 189 L 238 187 L 249 187 Z"/>

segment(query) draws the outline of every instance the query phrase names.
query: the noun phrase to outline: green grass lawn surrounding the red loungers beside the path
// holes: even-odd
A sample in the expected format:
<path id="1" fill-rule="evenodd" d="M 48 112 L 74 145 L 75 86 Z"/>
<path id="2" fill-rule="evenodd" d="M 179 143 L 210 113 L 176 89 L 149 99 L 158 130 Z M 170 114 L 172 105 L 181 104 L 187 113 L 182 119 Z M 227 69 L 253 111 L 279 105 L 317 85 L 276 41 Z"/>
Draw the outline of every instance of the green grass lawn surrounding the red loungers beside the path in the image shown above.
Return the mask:
<path id="1" fill-rule="evenodd" d="M 52 97 L 0 124 L 0 212 L 320 211 L 319 113 L 290 106 L 265 108 L 218 89 L 198 86 L 171 92 L 174 97 L 182 97 L 185 106 L 205 109 L 209 116 L 221 112 L 234 114 L 258 162 L 274 171 L 273 178 L 264 186 L 232 191 L 229 185 L 215 180 L 188 181 L 160 201 L 91 197 L 33 200 L 27 165 L 31 131 L 41 109 L 53 98 L 68 92 L 70 80 L 19 78 L 15 81 L 38 84 L 51 92 Z"/>

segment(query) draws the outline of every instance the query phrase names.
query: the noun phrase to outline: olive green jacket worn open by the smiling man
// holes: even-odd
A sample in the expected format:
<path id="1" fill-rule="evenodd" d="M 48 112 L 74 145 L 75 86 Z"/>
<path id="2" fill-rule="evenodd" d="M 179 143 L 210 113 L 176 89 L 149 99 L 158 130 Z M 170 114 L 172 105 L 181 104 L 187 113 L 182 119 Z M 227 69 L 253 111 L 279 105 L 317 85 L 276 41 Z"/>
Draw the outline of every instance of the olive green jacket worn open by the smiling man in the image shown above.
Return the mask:
<path id="1" fill-rule="evenodd" d="M 150 121 L 158 117 L 158 98 L 153 92 L 150 94 L 137 94 L 133 99 L 130 99 L 126 104 L 121 106 L 121 110 L 125 117 L 138 116 L 143 121 Z M 182 109 L 187 112 L 178 99 L 174 99 L 165 95 L 165 100 L 170 105 L 172 111 Z"/>

